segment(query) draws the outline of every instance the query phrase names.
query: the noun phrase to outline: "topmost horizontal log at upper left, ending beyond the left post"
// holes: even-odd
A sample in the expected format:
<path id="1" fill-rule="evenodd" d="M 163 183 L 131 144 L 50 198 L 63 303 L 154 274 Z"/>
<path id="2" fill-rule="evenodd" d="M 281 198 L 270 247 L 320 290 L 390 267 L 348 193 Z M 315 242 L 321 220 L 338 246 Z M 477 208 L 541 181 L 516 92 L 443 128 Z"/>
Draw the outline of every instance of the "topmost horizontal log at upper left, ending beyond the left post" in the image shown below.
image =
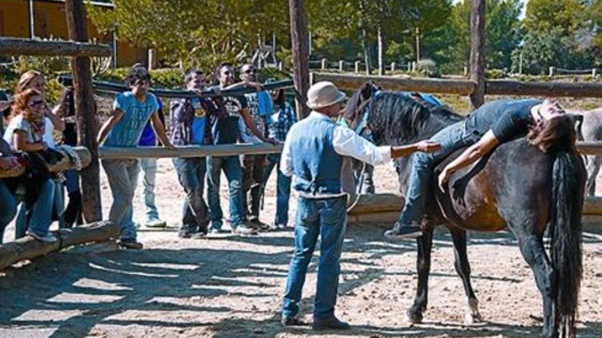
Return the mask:
<path id="1" fill-rule="evenodd" d="M 0 55 L 60 55 L 71 57 L 110 57 L 108 45 L 87 42 L 42 41 L 28 38 L 0 38 Z"/>

